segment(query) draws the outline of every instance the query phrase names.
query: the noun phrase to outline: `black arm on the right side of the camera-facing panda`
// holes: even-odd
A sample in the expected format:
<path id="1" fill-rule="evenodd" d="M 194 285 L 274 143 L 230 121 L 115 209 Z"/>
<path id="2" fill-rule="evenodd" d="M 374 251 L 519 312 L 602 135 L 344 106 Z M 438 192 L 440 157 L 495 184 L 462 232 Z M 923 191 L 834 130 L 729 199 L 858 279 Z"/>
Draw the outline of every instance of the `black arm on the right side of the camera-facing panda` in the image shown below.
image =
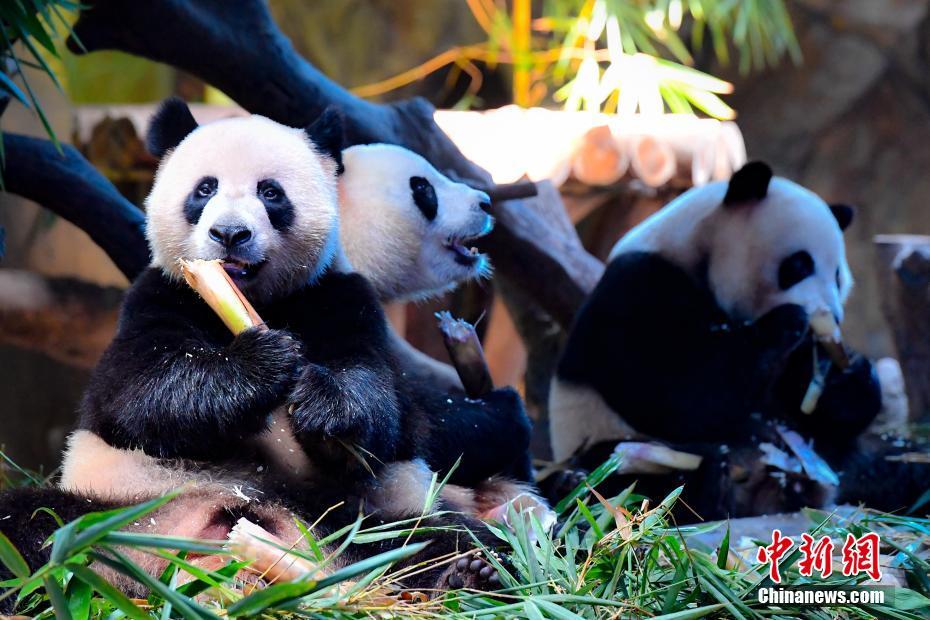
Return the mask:
<path id="1" fill-rule="evenodd" d="M 270 310 L 304 345 L 306 366 L 291 392 L 291 420 L 305 450 L 344 455 L 335 440 L 381 461 L 396 456 L 400 410 L 387 322 L 358 274 L 330 273 Z"/>

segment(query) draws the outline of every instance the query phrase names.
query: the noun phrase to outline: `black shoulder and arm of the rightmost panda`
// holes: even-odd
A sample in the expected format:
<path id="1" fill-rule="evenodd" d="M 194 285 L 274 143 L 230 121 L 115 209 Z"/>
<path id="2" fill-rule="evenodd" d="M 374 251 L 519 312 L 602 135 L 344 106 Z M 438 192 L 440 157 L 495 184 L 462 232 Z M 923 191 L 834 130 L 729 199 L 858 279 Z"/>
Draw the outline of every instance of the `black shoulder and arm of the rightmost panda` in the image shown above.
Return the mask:
<path id="1" fill-rule="evenodd" d="M 806 329 L 797 306 L 735 325 L 706 287 L 668 260 L 621 254 L 579 312 L 558 376 L 593 388 L 641 433 L 738 439 L 751 432 L 765 381 Z"/>

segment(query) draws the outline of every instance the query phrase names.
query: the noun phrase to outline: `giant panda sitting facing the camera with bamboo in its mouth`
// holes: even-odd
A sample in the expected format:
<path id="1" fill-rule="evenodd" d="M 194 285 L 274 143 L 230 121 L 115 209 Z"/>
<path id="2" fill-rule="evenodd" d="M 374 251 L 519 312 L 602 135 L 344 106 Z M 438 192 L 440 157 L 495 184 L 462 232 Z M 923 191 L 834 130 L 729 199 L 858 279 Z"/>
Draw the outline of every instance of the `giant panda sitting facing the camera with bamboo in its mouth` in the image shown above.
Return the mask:
<path id="1" fill-rule="evenodd" d="M 324 114 L 302 130 L 251 116 L 201 127 L 180 100 L 162 106 L 149 135 L 162 156 L 146 200 L 152 267 L 127 292 L 92 375 L 63 490 L 40 500 L 70 514 L 191 482 L 185 508 L 176 500 L 156 521 L 161 533 L 208 538 L 228 531 L 238 505 L 228 497 L 243 488 L 267 502 L 258 517 L 271 533 L 291 513 L 325 512 L 324 533 L 360 508 L 382 522 L 422 513 L 431 472 L 416 459 L 437 423 L 403 408 L 377 295 L 341 259 L 340 122 Z M 181 281 L 181 258 L 222 260 L 270 329 L 232 337 Z M 11 523 L 38 507 L 33 499 L 4 498 Z M 488 536 L 464 515 L 432 513 L 423 523 L 449 527 L 431 530 L 434 543 L 411 561 L 467 548 L 465 527 Z M 6 533 L 28 549 L 36 531 Z M 478 564 L 414 582 L 493 583 Z"/>

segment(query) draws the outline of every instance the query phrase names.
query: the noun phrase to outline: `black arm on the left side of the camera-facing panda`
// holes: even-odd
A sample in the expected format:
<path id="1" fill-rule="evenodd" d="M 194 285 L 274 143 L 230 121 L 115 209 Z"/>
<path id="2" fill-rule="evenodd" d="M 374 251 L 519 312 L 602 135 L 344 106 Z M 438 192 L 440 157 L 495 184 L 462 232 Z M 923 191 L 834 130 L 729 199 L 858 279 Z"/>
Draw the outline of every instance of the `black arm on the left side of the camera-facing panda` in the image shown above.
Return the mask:
<path id="1" fill-rule="evenodd" d="M 275 330 L 232 338 L 191 291 L 151 269 L 126 295 L 116 338 L 81 404 L 81 426 L 152 456 L 222 456 L 260 432 L 283 402 L 297 349 Z"/>

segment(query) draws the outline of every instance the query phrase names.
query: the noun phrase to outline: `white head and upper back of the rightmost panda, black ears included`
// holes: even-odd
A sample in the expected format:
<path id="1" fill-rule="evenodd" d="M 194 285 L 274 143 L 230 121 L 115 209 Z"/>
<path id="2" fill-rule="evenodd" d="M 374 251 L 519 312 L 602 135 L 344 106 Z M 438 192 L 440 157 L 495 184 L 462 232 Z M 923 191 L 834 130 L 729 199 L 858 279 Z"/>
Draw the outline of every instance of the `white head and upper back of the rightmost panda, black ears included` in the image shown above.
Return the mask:
<path id="1" fill-rule="evenodd" d="M 656 252 L 706 279 L 720 307 L 755 320 L 782 304 L 812 315 L 826 309 L 837 323 L 853 285 L 843 229 L 852 209 L 753 162 L 729 183 L 689 190 L 647 218 L 614 247 Z"/>

